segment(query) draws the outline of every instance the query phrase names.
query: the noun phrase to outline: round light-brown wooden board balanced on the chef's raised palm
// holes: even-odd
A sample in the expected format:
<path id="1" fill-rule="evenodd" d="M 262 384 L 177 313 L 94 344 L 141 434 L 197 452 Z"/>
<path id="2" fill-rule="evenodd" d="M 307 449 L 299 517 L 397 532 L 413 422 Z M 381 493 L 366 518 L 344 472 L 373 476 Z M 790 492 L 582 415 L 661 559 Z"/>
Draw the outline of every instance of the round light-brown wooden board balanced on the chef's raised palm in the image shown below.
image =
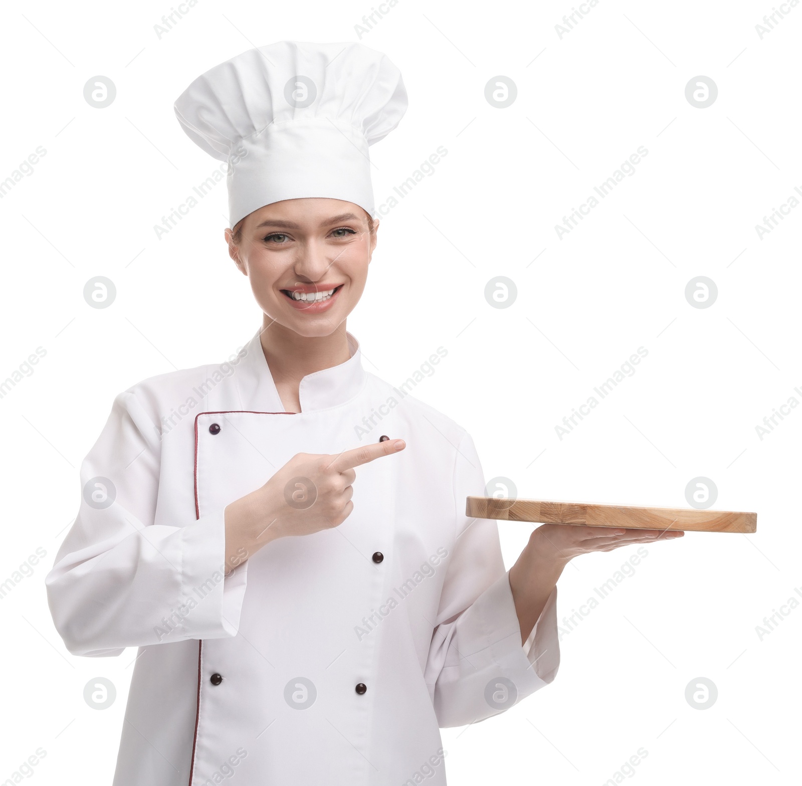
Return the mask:
<path id="1" fill-rule="evenodd" d="M 584 502 L 504 500 L 494 496 L 469 496 L 465 513 L 472 518 L 505 521 L 537 521 L 540 524 L 572 524 L 627 529 L 682 529 L 704 533 L 753 533 L 757 513 L 694 508 L 633 508 Z"/>

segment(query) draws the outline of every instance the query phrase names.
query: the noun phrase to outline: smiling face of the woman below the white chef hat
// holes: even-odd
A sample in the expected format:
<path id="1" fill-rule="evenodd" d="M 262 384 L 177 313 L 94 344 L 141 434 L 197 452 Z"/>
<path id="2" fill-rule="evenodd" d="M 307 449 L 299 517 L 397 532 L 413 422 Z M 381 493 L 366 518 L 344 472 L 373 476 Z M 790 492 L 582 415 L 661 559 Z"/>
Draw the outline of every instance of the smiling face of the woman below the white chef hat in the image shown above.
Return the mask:
<path id="1" fill-rule="evenodd" d="M 289 199 L 245 217 L 229 255 L 261 310 L 307 338 L 334 332 L 362 297 L 376 245 L 367 213 L 338 199 Z"/>

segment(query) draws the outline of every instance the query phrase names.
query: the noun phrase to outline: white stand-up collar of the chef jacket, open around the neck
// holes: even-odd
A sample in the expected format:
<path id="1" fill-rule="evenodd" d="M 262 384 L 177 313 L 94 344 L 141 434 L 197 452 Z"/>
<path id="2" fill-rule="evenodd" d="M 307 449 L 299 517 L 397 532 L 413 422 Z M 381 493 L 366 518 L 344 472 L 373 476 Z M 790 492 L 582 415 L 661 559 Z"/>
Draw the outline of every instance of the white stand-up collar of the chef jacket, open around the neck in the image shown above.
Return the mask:
<path id="1" fill-rule="evenodd" d="M 241 352 L 242 365 L 236 375 L 241 407 L 247 411 L 283 412 L 284 405 L 261 348 L 260 335 L 261 327 Z M 302 412 L 338 407 L 353 399 L 365 386 L 367 372 L 362 366 L 359 342 L 350 333 L 346 332 L 346 337 L 350 358 L 345 363 L 315 371 L 301 380 L 298 399 Z"/>

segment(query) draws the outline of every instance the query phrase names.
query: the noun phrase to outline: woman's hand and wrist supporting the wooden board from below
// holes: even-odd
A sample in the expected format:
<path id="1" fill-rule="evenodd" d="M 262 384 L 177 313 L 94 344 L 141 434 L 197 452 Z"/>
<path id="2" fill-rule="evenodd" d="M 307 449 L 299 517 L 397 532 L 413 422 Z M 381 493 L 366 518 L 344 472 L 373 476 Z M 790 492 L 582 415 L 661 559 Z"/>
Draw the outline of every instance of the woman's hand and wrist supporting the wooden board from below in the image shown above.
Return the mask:
<path id="1" fill-rule="evenodd" d="M 674 529 L 611 529 L 565 524 L 545 524 L 535 529 L 509 571 L 521 644 L 529 638 L 557 579 L 573 557 L 594 551 L 613 551 L 634 543 L 670 541 L 684 534 Z"/>

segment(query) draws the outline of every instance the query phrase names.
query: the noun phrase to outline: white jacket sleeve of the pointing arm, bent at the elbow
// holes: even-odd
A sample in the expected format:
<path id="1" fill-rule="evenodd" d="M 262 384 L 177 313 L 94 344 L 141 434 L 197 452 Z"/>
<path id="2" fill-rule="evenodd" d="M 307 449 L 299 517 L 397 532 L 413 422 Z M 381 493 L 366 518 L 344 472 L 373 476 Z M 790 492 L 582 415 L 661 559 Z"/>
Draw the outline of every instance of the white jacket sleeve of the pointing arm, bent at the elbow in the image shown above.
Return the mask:
<path id="1" fill-rule="evenodd" d="M 78 516 L 45 580 L 72 654 L 237 634 L 247 563 L 225 576 L 222 512 L 154 524 L 160 460 L 160 429 L 133 389 L 121 393 L 83 460 Z"/>

